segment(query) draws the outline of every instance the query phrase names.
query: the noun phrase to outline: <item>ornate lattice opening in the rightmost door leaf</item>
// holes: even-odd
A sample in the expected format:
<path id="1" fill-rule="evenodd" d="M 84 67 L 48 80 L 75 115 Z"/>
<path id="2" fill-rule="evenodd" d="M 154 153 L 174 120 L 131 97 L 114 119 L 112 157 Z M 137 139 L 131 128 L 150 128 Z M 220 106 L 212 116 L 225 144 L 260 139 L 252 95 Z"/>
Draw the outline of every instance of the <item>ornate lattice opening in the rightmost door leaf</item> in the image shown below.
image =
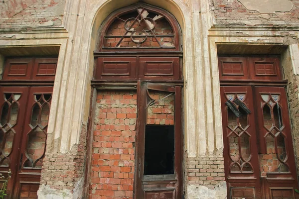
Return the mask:
<path id="1" fill-rule="evenodd" d="M 272 89 L 274 90 L 274 89 Z M 262 176 L 267 176 L 267 173 L 288 174 L 290 170 L 290 143 L 292 142 L 288 117 L 286 110 L 285 94 L 283 89 L 278 88 L 276 92 L 261 92 L 259 93 L 259 103 L 261 104 L 260 128 L 261 133 L 261 150 L 260 161 L 267 160 L 267 164 L 263 165 Z M 271 161 L 268 160 L 272 157 Z M 291 166 L 292 167 L 292 166 Z"/>

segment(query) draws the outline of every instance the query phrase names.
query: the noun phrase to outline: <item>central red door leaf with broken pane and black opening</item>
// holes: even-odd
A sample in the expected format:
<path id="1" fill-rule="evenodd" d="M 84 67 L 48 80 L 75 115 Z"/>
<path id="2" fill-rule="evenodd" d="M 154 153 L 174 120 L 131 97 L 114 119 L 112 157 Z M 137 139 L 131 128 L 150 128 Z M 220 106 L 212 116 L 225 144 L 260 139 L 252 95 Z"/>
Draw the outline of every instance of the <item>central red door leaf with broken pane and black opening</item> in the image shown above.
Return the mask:
<path id="1" fill-rule="evenodd" d="M 181 88 L 139 81 L 136 199 L 181 199 Z"/>

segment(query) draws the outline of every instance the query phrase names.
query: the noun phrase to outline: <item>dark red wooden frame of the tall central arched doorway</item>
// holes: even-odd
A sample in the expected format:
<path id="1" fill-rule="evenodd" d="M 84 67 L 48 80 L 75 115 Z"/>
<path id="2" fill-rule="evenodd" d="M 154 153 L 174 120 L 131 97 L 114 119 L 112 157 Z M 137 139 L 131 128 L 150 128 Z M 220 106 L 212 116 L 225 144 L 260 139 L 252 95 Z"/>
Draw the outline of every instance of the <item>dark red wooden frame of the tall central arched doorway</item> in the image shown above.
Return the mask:
<path id="1" fill-rule="evenodd" d="M 107 30 L 109 29 L 110 25 L 113 23 L 113 21 L 118 17 L 120 14 L 125 14 L 128 12 L 131 12 L 135 10 L 138 7 L 144 7 L 150 11 L 153 11 L 154 13 L 160 13 L 165 17 L 165 19 L 168 21 L 170 24 L 173 34 L 174 34 L 174 48 L 164 48 L 162 46 L 160 47 L 154 47 L 154 48 L 105 48 L 103 45 L 103 41 L 105 39 L 105 35 Z M 107 35 L 106 35 L 107 36 Z M 140 79 L 147 79 L 145 80 L 146 82 L 152 82 L 152 83 L 160 83 L 160 84 L 167 84 L 167 85 L 175 85 L 178 87 L 183 87 L 184 82 L 183 82 L 183 73 L 182 73 L 182 57 L 183 57 L 183 52 L 182 52 L 182 33 L 180 26 L 175 19 L 173 15 L 171 15 L 168 11 L 152 6 L 149 4 L 146 4 L 144 2 L 139 2 L 135 3 L 133 5 L 118 9 L 114 12 L 112 12 L 103 22 L 101 27 L 99 28 L 98 31 L 98 38 L 97 38 L 97 48 L 96 51 L 94 52 L 94 71 L 93 71 L 93 78 L 91 80 L 91 86 L 92 86 L 92 92 L 91 92 L 91 98 L 90 98 L 90 109 L 89 109 L 89 118 L 88 118 L 88 132 L 87 132 L 87 161 L 85 164 L 85 178 L 84 178 L 84 191 L 86 198 L 88 197 L 89 194 L 89 176 L 90 176 L 90 166 L 91 166 L 91 156 L 92 156 L 92 142 L 93 142 L 93 126 L 94 126 L 94 117 L 95 117 L 95 105 L 96 105 L 96 93 L 98 89 L 101 90 L 137 90 L 137 93 L 141 92 L 140 90 L 140 84 L 138 81 Z M 99 69 L 97 71 L 98 67 L 102 67 L 103 60 L 104 59 L 112 59 L 112 60 L 117 60 L 117 59 L 123 59 L 123 60 L 132 60 L 134 62 L 133 64 L 133 74 L 130 74 L 130 77 L 121 77 L 118 76 L 119 78 L 113 77 L 113 75 L 103 78 L 99 75 L 99 71 L 102 69 Z M 162 75 L 162 76 L 155 76 L 155 75 L 150 75 L 148 77 L 144 77 L 144 75 L 140 74 L 140 68 L 143 66 L 143 59 L 148 58 L 161 58 L 163 60 L 174 60 L 174 65 L 177 67 L 174 71 L 173 77 L 171 77 L 169 74 L 168 76 Z M 140 60 L 142 59 L 142 60 Z M 182 99 L 182 92 L 181 88 L 179 88 L 179 91 L 177 91 L 180 95 L 180 99 Z M 139 103 L 143 103 L 138 99 Z M 139 104 L 138 103 L 138 104 Z M 182 105 L 182 100 L 180 100 L 179 107 L 181 109 Z M 140 115 L 140 107 L 138 105 L 138 111 L 137 115 Z M 180 113 L 181 118 L 180 121 L 182 122 L 182 114 Z M 137 117 L 138 118 L 138 117 Z M 140 125 L 138 123 L 137 119 L 137 129 L 138 126 Z M 144 124 L 145 125 L 145 124 Z M 180 126 L 180 128 L 182 128 Z M 181 130 L 181 139 L 183 139 L 182 133 L 183 131 Z M 138 133 L 138 132 L 137 132 Z M 139 140 L 138 138 L 139 134 L 136 134 L 136 140 Z M 136 146 L 135 149 L 135 155 L 138 153 L 138 141 L 136 141 Z M 177 144 L 177 143 L 175 143 Z M 183 162 L 182 157 L 183 157 L 183 141 L 179 143 L 181 146 L 181 151 L 180 151 L 180 164 Z M 135 158 L 135 173 L 137 169 L 137 158 Z M 183 169 L 183 167 L 182 167 Z M 180 173 L 179 178 L 183 179 L 182 177 L 183 171 Z M 136 177 L 134 176 L 134 186 L 136 183 Z M 181 189 L 183 189 L 183 186 L 181 186 Z M 135 190 L 135 189 L 134 189 Z M 181 191 L 180 191 L 181 192 Z M 134 194 L 135 195 L 135 191 Z M 143 197 L 142 197 L 143 198 Z M 135 197 L 136 199 L 136 197 Z"/>

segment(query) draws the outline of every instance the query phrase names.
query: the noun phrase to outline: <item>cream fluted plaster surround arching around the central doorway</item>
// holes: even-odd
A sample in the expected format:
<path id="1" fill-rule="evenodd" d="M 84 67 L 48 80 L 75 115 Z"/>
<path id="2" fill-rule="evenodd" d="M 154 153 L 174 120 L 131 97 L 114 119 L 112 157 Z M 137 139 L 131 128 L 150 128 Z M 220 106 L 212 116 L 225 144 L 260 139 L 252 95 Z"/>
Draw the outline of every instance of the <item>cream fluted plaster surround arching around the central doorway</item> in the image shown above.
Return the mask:
<path id="1" fill-rule="evenodd" d="M 118 3 L 115 3 L 115 0 L 67 1 L 64 26 L 69 31 L 69 42 L 65 52 L 65 66 L 71 66 L 72 70 L 64 74 L 67 77 L 66 81 L 60 85 L 60 97 L 57 99 L 59 112 L 53 121 L 55 126 L 51 128 L 49 126 L 53 130 L 52 141 L 49 141 L 47 147 L 49 153 L 58 151 L 67 154 L 71 152 L 73 146 L 79 143 L 82 123 L 87 124 L 89 115 L 90 80 L 94 67 L 93 51 L 97 48 L 97 30 L 112 11 L 135 2 L 138 1 L 118 1 Z M 223 161 L 223 141 L 221 118 L 219 118 L 220 103 L 218 101 L 214 103 L 211 98 L 213 89 L 207 40 L 207 30 L 211 25 L 209 0 L 145 0 L 144 2 L 159 6 L 172 13 L 183 31 L 186 157 L 197 158 L 198 165 L 202 165 L 200 161 L 206 161 L 206 158 L 215 158 L 215 160 L 210 159 L 212 162 L 208 166 L 210 167 L 214 164 L 213 161 L 216 161 L 217 167 L 217 164 L 221 163 L 217 161 Z M 201 160 L 201 157 L 204 159 Z M 196 176 L 196 172 L 203 174 L 205 171 L 194 171 L 194 174 L 191 175 Z M 209 185 L 213 183 L 213 188 L 217 186 L 218 181 L 223 181 L 223 171 L 221 170 L 219 173 L 221 176 L 215 177 L 214 182 L 212 179 L 207 180 Z M 76 176 L 74 183 L 82 182 L 80 180 L 82 178 L 81 175 Z M 196 180 L 194 182 L 196 183 Z M 51 197 L 54 191 L 50 194 L 47 191 L 50 187 L 51 185 L 41 186 L 38 196 L 40 198 Z M 220 187 L 221 192 L 225 195 L 226 188 Z M 190 190 L 190 194 L 197 193 L 195 187 L 190 187 L 188 190 Z M 211 190 L 218 192 L 217 189 Z M 74 190 L 70 192 L 56 190 L 55 197 L 62 198 L 63 193 L 67 193 L 65 197 L 75 197 Z M 192 199 L 192 195 L 189 198 Z M 222 199 L 222 197 L 220 198 Z"/>

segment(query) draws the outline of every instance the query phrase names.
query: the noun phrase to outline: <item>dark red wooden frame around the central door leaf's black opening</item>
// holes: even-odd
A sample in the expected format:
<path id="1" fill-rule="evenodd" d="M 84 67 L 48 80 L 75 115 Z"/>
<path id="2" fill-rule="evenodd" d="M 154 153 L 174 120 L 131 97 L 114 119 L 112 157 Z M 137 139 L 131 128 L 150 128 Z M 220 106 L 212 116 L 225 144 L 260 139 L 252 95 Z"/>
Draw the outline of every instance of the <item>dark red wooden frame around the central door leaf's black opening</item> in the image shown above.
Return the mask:
<path id="1" fill-rule="evenodd" d="M 134 173 L 134 199 L 144 198 L 143 178 L 144 178 L 144 157 L 145 157 L 145 129 L 147 123 L 147 90 L 171 92 L 175 95 L 174 112 L 174 175 L 177 180 L 175 198 L 182 196 L 183 190 L 183 139 L 182 139 L 182 94 L 180 87 L 166 86 L 161 84 L 138 81 L 137 88 L 137 125 L 136 125 L 136 148 L 135 148 L 135 173 Z M 177 108 L 178 107 L 178 108 Z M 179 117 L 178 117 L 178 116 Z M 181 166 L 181 168 L 180 168 Z"/>

